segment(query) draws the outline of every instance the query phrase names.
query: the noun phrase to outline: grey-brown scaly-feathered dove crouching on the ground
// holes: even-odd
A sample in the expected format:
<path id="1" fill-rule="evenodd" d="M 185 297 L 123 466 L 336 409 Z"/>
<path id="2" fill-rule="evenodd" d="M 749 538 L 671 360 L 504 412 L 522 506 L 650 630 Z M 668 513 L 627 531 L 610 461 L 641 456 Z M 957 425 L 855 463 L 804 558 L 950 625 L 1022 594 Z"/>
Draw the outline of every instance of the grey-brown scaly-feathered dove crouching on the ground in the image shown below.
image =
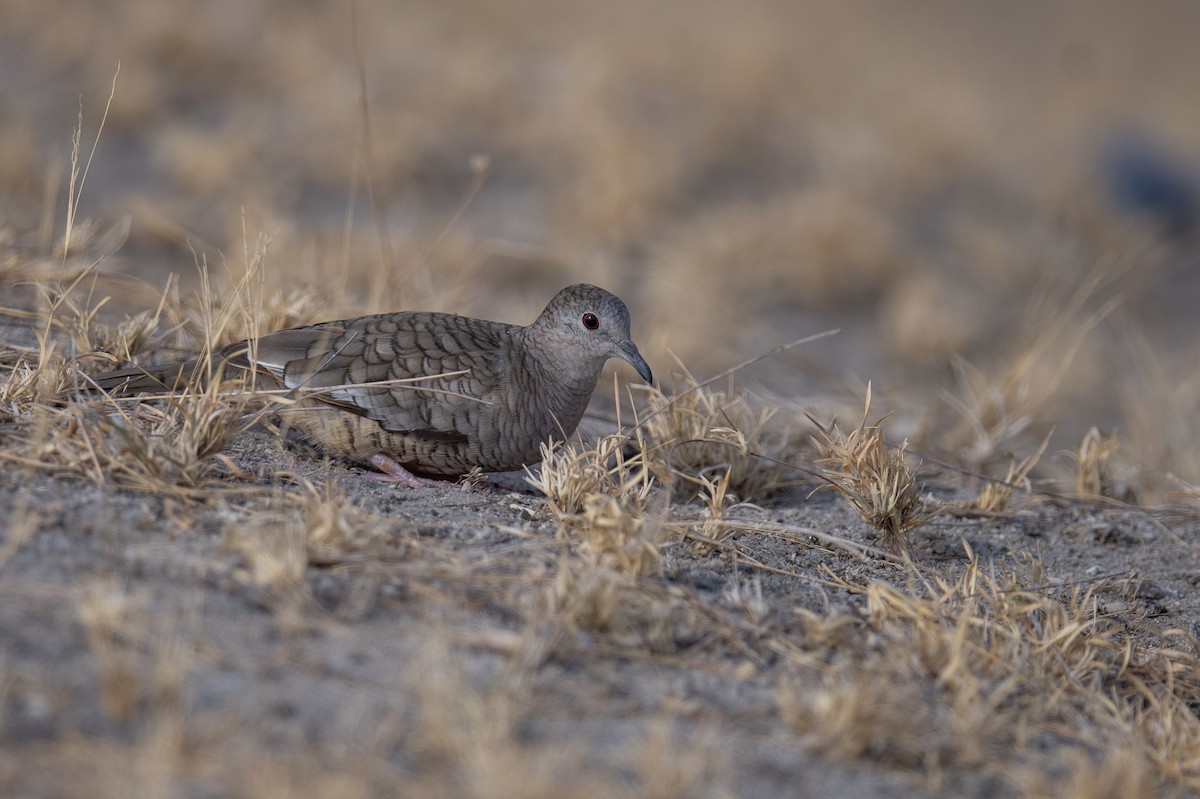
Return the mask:
<path id="1" fill-rule="evenodd" d="M 608 359 L 653 384 L 614 294 L 569 286 L 528 325 L 402 311 L 289 328 L 222 348 L 224 374 L 295 391 L 293 429 L 412 488 L 541 459 L 583 416 Z M 114 395 L 174 391 L 198 361 L 94 377 Z M 401 383 L 403 382 L 403 383 Z"/>

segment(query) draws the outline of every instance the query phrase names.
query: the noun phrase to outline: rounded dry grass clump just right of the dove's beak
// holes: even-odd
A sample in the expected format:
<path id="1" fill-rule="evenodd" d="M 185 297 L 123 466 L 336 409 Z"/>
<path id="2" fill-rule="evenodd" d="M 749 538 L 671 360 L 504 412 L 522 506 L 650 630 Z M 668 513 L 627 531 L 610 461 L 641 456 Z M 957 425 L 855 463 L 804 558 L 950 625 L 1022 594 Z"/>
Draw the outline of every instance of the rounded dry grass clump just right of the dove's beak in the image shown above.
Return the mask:
<path id="1" fill-rule="evenodd" d="M 684 391 L 667 396 L 648 391 L 649 411 L 642 420 L 647 463 L 664 485 L 689 499 L 714 481 L 739 501 L 769 497 L 780 486 L 784 468 L 774 459 L 787 434 L 769 426 L 774 410 L 755 409 L 745 397 L 709 391 L 686 378 Z M 763 457 L 766 456 L 766 457 Z"/>

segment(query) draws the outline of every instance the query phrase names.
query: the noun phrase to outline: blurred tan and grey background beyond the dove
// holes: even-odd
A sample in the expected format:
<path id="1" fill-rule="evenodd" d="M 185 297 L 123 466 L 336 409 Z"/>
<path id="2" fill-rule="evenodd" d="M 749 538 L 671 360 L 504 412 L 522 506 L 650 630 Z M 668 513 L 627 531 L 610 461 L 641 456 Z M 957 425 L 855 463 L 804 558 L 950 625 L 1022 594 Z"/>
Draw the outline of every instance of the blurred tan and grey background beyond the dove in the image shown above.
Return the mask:
<path id="1" fill-rule="evenodd" d="M 2 18 L 11 251 L 61 244 L 82 114 L 83 155 L 98 144 L 74 233 L 130 221 L 108 271 L 194 284 L 198 262 L 235 275 L 258 253 L 313 317 L 520 323 L 588 281 L 626 300 L 664 377 L 672 354 L 704 377 L 836 326 L 739 385 L 799 420 L 860 408 L 871 380 L 898 435 L 978 468 L 1098 425 L 1132 481 L 1200 482 L 1194 1 Z"/>

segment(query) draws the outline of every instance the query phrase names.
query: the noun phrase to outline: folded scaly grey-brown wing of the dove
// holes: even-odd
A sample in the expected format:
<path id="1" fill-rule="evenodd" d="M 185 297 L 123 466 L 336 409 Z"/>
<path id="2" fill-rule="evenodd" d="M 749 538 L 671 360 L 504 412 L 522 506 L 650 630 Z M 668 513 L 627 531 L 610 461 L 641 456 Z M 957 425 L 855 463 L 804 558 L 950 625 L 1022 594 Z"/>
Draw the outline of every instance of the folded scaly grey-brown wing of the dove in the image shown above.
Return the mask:
<path id="1" fill-rule="evenodd" d="M 361 317 L 263 336 L 253 368 L 386 431 L 464 440 L 492 401 L 514 330 L 438 313 Z"/>

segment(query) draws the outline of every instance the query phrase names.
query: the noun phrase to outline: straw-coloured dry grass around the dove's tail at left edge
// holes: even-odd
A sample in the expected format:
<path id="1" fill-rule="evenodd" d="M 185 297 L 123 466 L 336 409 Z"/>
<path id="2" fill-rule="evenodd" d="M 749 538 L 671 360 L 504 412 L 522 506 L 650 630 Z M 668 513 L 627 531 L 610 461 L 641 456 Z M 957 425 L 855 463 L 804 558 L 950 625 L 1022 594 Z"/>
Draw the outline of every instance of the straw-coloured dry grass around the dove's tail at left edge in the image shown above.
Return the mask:
<path id="1" fill-rule="evenodd" d="M 95 226 L 74 226 L 73 250 L 91 247 Z M 110 238 L 110 236 L 108 236 Z M 108 250 L 113 245 L 104 245 Z M 107 251 L 106 251 L 107 252 Z M 97 483 L 148 492 L 196 494 L 220 470 L 220 453 L 229 441 L 257 423 L 282 397 L 257 394 L 242 380 L 221 380 L 224 365 L 212 353 L 227 341 L 257 335 L 264 324 L 295 324 L 316 307 L 310 295 L 265 289 L 268 241 L 259 240 L 240 276 L 214 286 L 198 259 L 200 292 L 179 298 L 168 278 L 156 305 L 125 319 L 103 322 L 109 298 L 96 298 L 100 256 L 64 282 L 60 270 L 37 283 L 40 308 L 6 308 L 5 314 L 36 326 L 36 349 L 12 348 L 8 374 L 0 378 L 0 419 L 17 422 L 16 445 L 0 457 L 55 473 L 83 473 Z M 35 265 L 41 262 L 31 262 Z M 138 288 L 145 288 L 137 284 Z M 162 330 L 163 320 L 169 329 Z M 176 340 L 199 350 L 196 373 L 180 391 L 138 401 L 116 401 L 97 394 L 85 404 L 71 395 L 89 378 L 84 373 L 138 362 Z M 65 350 L 70 349 L 70 354 Z M 98 398 L 97 398 L 98 397 Z M 161 401 L 155 407 L 143 401 Z"/>

